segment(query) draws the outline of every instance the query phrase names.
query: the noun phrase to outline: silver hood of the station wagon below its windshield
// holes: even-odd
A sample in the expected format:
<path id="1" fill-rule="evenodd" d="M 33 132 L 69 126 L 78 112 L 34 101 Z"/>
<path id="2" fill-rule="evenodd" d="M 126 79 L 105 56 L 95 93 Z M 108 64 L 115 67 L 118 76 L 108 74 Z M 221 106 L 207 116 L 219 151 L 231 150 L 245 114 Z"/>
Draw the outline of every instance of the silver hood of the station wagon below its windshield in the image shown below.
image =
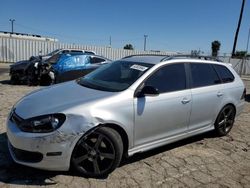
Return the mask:
<path id="1" fill-rule="evenodd" d="M 20 117 L 27 119 L 62 112 L 77 105 L 87 104 L 115 94 L 86 88 L 76 81 L 70 81 L 31 92 L 18 101 L 14 108 Z"/>

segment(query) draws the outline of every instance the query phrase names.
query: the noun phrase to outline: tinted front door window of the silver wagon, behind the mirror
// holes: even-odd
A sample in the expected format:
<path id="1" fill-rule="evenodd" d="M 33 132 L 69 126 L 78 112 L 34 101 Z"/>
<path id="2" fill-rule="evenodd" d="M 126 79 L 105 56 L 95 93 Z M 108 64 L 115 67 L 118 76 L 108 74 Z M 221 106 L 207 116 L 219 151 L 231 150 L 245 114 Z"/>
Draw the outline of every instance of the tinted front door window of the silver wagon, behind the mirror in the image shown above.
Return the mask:
<path id="1" fill-rule="evenodd" d="M 167 65 L 150 76 L 145 85 L 154 86 L 160 93 L 186 89 L 184 63 Z"/>

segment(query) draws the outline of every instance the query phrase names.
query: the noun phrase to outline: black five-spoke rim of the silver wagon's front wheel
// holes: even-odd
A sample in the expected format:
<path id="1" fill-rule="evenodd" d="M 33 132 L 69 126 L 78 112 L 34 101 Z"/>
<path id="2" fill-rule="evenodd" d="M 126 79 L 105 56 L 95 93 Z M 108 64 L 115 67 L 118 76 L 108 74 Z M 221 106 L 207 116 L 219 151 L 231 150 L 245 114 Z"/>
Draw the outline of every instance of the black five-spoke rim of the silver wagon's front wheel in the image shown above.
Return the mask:
<path id="1" fill-rule="evenodd" d="M 101 133 L 92 133 L 80 140 L 72 157 L 75 167 L 86 175 L 104 173 L 112 167 L 114 160 L 114 145 Z"/>

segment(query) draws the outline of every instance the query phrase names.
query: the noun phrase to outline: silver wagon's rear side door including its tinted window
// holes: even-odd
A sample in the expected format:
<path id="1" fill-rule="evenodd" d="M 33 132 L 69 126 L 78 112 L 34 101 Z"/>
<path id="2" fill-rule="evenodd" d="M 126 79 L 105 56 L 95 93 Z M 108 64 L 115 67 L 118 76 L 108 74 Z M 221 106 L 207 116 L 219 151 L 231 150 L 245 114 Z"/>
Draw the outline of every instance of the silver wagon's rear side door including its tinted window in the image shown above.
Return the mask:
<path id="1" fill-rule="evenodd" d="M 206 128 L 213 124 L 223 103 L 221 80 L 211 64 L 190 63 L 192 111 L 189 131 Z"/>

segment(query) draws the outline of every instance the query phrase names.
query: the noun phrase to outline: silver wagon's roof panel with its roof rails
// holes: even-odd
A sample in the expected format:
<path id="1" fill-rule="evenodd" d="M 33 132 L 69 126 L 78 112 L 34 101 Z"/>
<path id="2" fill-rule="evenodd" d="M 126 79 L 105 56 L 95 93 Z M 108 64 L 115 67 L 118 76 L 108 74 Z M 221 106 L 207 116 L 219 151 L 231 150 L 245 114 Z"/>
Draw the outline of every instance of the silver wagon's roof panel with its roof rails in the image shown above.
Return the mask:
<path id="1" fill-rule="evenodd" d="M 150 63 L 150 64 L 158 64 L 163 61 L 169 60 L 202 60 L 202 62 L 222 62 L 219 59 L 211 56 L 192 56 L 192 55 L 131 55 L 122 58 L 124 61 L 134 61 L 134 62 L 141 62 L 141 63 Z"/>

